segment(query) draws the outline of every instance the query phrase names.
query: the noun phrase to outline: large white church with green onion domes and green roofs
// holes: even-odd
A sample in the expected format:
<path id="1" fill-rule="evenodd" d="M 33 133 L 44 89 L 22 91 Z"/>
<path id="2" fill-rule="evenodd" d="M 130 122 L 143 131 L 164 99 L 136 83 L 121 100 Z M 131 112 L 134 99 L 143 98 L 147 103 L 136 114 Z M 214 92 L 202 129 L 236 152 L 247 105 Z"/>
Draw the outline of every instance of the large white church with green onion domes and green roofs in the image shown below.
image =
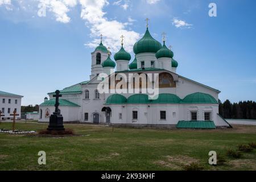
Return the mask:
<path id="1" fill-rule="evenodd" d="M 134 44 L 135 59 L 125 51 L 123 42 L 114 60 L 101 43 L 92 52 L 90 80 L 60 90 L 59 109 L 64 122 L 94 124 L 173 127 L 184 129 L 216 129 L 232 127 L 218 114 L 219 90 L 200 84 L 176 73 L 178 63 L 174 52 L 155 40 L 148 28 L 141 40 Z M 105 78 L 99 79 L 101 73 Z M 100 93 L 98 84 L 119 73 L 158 75 L 158 96 L 151 99 L 141 92 L 143 82 L 139 81 L 137 93 Z M 106 79 L 108 78 L 108 79 Z M 118 81 L 109 85 L 115 88 Z M 134 86 L 134 84 L 131 84 Z M 49 122 L 55 110 L 54 92 L 39 106 L 39 122 Z"/>

